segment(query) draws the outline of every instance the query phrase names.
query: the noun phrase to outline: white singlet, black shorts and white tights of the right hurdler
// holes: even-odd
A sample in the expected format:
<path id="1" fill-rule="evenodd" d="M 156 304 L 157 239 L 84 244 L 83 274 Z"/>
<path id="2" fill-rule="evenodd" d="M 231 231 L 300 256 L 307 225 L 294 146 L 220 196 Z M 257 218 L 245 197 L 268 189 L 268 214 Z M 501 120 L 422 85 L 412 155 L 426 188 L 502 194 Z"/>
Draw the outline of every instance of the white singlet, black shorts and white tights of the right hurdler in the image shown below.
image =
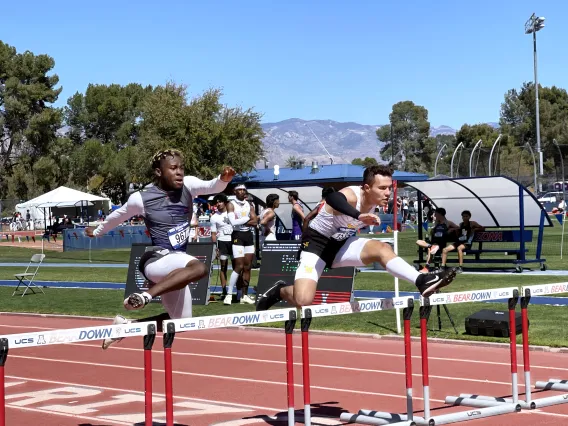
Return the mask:
<path id="1" fill-rule="evenodd" d="M 355 208 L 361 211 L 361 187 L 350 186 L 357 196 Z M 350 216 L 328 213 L 323 203 L 308 230 L 302 235 L 300 263 L 295 279 L 308 278 L 318 281 L 323 270 L 344 266 L 364 266 L 361 261 L 363 246 L 367 238 L 357 237 L 357 231 L 366 225 Z M 376 206 L 361 213 L 373 213 Z"/>

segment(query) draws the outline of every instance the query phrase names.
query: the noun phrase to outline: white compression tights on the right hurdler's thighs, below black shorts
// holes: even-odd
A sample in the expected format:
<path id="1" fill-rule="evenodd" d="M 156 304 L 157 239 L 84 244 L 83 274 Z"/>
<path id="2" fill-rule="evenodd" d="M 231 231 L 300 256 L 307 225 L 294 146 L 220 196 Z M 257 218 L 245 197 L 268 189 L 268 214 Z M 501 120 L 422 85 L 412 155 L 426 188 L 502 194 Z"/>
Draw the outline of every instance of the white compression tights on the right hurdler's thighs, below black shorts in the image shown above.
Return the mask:
<path id="1" fill-rule="evenodd" d="M 360 267 L 365 266 L 361 261 L 361 252 L 363 247 L 370 240 L 368 238 L 350 237 L 347 239 L 343 247 L 335 255 L 332 268 L 342 268 L 345 266 Z M 296 270 L 295 280 L 310 279 L 319 281 L 325 262 L 315 253 L 302 251 L 300 262 Z"/>

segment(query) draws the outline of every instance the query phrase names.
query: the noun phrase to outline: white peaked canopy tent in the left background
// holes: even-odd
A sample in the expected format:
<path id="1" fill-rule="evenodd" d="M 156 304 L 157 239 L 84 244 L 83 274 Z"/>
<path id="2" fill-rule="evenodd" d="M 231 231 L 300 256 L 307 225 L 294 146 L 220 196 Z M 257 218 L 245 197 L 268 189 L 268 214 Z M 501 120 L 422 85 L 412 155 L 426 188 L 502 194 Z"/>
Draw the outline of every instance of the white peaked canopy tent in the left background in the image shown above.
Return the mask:
<path id="1" fill-rule="evenodd" d="M 95 203 L 107 212 L 110 211 L 111 202 L 109 198 L 60 186 L 39 197 L 16 205 L 16 209 L 22 214 L 22 217 L 26 217 L 26 211 L 29 210 L 32 220 L 43 221 L 44 217 L 51 216 L 52 208 L 88 207 L 95 205 Z"/>

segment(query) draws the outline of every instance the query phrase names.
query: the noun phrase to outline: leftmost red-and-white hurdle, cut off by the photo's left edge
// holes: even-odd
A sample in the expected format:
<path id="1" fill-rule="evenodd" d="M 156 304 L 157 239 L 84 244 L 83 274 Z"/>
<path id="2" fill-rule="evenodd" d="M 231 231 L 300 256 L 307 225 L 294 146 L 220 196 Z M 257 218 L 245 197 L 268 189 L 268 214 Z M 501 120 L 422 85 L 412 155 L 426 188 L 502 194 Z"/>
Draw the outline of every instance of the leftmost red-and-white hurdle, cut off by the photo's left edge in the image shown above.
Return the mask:
<path id="1" fill-rule="evenodd" d="M 37 331 L 0 336 L 0 426 L 6 425 L 6 389 L 4 366 L 11 349 L 91 342 L 102 339 L 144 338 L 144 416 L 145 426 L 152 426 L 152 346 L 156 337 L 156 322 L 117 324 L 108 326 Z"/>

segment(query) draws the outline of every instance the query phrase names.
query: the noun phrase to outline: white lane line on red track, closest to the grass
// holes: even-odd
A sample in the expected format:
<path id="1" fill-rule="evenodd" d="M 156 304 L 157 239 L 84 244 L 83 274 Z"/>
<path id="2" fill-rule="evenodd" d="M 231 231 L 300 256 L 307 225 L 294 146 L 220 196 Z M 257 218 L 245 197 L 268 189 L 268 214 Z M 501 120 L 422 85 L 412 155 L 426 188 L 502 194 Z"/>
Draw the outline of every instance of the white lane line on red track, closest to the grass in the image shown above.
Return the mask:
<path id="1" fill-rule="evenodd" d="M 35 327 L 35 326 L 17 326 L 17 325 L 0 325 L 0 329 L 2 327 L 10 327 L 10 328 L 32 328 L 36 330 L 58 330 L 57 328 L 53 327 Z M 219 329 L 222 330 L 222 329 Z M 187 334 L 187 333 L 186 333 Z M 319 336 L 318 336 L 319 337 Z M 325 336 L 323 336 L 325 337 Z M 237 340 L 219 340 L 219 339 L 204 339 L 199 337 L 182 337 L 179 333 L 176 333 L 176 340 L 190 340 L 190 341 L 198 341 L 198 342 L 209 342 L 209 343 L 222 343 L 222 344 L 232 344 L 232 345 L 246 345 L 246 346 L 262 346 L 262 347 L 272 347 L 272 348 L 285 348 L 285 345 L 279 343 L 256 343 L 256 342 L 242 342 Z M 68 344 L 68 343 L 67 343 Z M 418 343 L 416 342 L 418 345 Z M 461 348 L 461 346 L 460 346 Z M 301 346 L 294 346 L 294 349 L 301 350 Z M 491 348 L 488 348 L 491 349 Z M 497 348 L 496 348 L 497 349 Z M 501 348 L 498 348 L 501 349 Z M 142 350 L 142 349 L 140 349 Z M 505 349 L 504 349 L 505 350 Z M 520 348 L 517 348 L 520 351 Z M 394 358 L 403 358 L 404 355 L 402 354 L 392 354 L 387 352 L 368 352 L 368 351 L 354 351 L 349 349 L 335 349 L 335 348 L 318 348 L 310 346 L 310 351 L 324 351 L 324 352 L 339 352 L 339 353 L 347 353 L 347 354 L 361 354 L 361 355 L 374 355 L 374 356 L 389 356 Z M 507 349 L 508 351 L 508 349 Z M 422 359 L 421 355 L 413 355 L 413 359 Z M 464 362 L 467 364 L 487 364 L 487 365 L 506 365 L 510 366 L 510 362 L 498 362 L 498 361 L 479 361 L 474 359 L 463 359 L 463 358 L 444 358 L 444 357 L 435 357 L 435 356 L 428 356 L 429 360 L 435 361 L 450 361 L 450 362 Z M 523 363 L 519 362 L 517 364 L 519 367 L 523 367 Z M 557 370 L 557 371 L 568 371 L 568 368 L 564 367 L 550 367 L 548 365 L 533 365 L 531 364 L 531 369 L 540 368 L 543 370 Z"/>

